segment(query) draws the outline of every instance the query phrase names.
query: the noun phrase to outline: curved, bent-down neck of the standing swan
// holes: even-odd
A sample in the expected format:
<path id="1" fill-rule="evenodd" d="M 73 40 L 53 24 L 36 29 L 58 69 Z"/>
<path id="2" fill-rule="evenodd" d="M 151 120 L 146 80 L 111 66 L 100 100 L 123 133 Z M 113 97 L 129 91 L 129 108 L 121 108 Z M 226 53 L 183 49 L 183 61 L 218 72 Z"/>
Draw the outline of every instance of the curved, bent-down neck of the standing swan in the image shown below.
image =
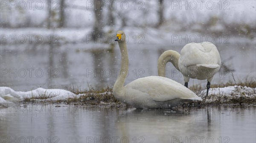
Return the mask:
<path id="1" fill-rule="evenodd" d="M 158 75 L 165 77 L 165 68 L 167 62 L 172 62 L 172 64 L 179 70 L 178 60 L 180 58 L 180 54 L 175 50 L 167 50 L 162 53 L 162 55 L 158 59 L 157 69 Z M 179 70 L 180 71 L 180 70 Z"/>

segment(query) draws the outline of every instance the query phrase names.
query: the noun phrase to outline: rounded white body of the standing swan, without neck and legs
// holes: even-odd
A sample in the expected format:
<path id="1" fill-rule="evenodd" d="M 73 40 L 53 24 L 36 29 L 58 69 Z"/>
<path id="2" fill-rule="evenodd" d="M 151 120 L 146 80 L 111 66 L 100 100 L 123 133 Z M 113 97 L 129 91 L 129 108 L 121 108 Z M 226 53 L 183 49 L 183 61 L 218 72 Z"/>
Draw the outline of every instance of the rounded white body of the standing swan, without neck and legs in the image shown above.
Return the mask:
<path id="1" fill-rule="evenodd" d="M 221 57 L 216 46 L 210 42 L 189 43 L 180 51 L 178 66 L 185 82 L 189 78 L 208 79 L 210 82 L 221 67 Z"/>

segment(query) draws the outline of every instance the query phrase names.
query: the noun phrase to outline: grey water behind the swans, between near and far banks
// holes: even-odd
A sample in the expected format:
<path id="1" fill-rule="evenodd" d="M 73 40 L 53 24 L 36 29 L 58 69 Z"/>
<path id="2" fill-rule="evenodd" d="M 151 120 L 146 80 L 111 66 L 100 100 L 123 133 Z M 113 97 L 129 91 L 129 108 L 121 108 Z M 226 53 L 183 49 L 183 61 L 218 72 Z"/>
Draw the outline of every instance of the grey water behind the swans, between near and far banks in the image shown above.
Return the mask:
<path id="1" fill-rule="evenodd" d="M 221 65 L 211 84 L 233 81 L 231 71 L 236 81 L 256 80 L 255 42 L 232 43 L 215 43 L 224 65 Z M 137 78 L 157 76 L 160 54 L 170 49 L 180 52 L 183 45 L 128 43 L 129 69 L 125 84 Z M 119 47 L 114 45 L 111 50 L 97 46 L 102 45 L 1 45 L 0 86 L 11 87 L 16 91 L 29 91 L 38 87 L 68 90 L 112 87 L 120 68 Z M 166 66 L 166 77 L 184 84 L 182 74 L 178 73 L 172 63 Z M 231 71 L 227 71 L 225 66 Z M 189 86 L 193 84 L 205 87 L 207 81 L 190 79 Z"/>

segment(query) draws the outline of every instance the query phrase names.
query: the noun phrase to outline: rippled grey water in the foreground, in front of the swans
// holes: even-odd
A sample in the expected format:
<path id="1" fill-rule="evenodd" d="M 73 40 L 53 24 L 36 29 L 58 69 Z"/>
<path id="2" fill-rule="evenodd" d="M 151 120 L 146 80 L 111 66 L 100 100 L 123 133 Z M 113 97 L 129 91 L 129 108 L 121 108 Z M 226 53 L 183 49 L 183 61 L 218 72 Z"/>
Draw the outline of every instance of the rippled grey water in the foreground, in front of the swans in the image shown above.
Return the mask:
<path id="1" fill-rule="evenodd" d="M 255 143 L 256 107 L 1 109 L 1 143 Z M 29 142 L 30 141 L 30 142 Z"/>

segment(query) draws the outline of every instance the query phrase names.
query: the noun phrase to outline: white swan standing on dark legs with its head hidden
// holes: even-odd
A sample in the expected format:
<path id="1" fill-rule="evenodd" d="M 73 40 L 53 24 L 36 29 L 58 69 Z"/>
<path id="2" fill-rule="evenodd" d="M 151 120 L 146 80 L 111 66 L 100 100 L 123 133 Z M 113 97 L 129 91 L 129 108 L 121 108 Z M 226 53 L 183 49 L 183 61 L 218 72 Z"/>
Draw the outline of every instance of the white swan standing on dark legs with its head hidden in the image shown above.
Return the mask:
<path id="1" fill-rule="evenodd" d="M 184 77 L 185 86 L 189 79 L 207 79 L 207 96 L 210 82 L 221 67 L 221 57 L 216 46 L 210 42 L 186 44 L 180 54 L 174 50 L 167 50 L 158 59 L 159 76 L 165 76 L 166 63 L 172 64 Z"/>

